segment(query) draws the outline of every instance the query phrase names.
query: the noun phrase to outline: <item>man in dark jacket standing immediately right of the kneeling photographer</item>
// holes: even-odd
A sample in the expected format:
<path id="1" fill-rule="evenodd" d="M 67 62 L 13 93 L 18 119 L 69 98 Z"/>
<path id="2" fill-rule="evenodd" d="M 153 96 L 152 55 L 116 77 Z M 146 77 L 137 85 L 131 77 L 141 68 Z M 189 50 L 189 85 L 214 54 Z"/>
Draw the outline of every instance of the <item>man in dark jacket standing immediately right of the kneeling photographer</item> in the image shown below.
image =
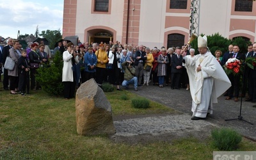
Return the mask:
<path id="1" fill-rule="evenodd" d="M 143 76 L 143 67 L 145 64 L 145 60 L 147 60 L 147 55 L 143 51 L 143 45 L 140 45 L 139 50 L 135 52 L 135 75 L 138 78 L 138 86 L 141 86 L 141 80 Z"/>

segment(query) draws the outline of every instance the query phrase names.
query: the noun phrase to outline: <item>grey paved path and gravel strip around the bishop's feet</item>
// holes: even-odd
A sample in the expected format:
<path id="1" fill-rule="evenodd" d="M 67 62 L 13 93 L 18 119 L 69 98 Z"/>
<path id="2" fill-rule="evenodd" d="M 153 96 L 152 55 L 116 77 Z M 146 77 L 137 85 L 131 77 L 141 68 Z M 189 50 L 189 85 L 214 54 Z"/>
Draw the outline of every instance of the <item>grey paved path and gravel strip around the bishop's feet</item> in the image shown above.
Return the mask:
<path id="1" fill-rule="evenodd" d="M 154 100 L 169 108 L 173 108 L 182 114 L 180 115 L 147 115 L 135 116 L 128 118 L 114 117 L 114 125 L 116 127 L 116 134 L 112 137 L 118 139 L 131 140 L 137 136 L 136 141 L 143 141 L 143 139 L 152 139 L 152 137 L 162 136 L 163 138 L 175 138 L 179 136 L 194 135 L 200 138 L 205 138 L 202 134 L 209 135 L 213 127 L 232 127 L 240 132 L 246 138 L 256 140 L 256 108 L 253 105 L 256 103 L 246 102 L 242 99 L 241 116 L 243 120 L 230 120 L 238 118 L 241 101 L 234 102 L 234 100 L 225 100 L 221 95 L 218 98 L 218 104 L 213 104 L 213 114 L 207 116 L 205 120 L 190 120 L 191 112 L 191 95 L 189 90 L 180 88 L 180 90 L 171 90 L 170 86 L 143 86 L 138 88 L 138 92 L 129 90 L 129 92 L 136 93 L 141 97 Z M 241 100 L 241 98 L 240 98 Z M 253 125 L 245 122 L 252 123 Z M 144 137 L 143 137 L 144 135 Z M 145 136 L 146 135 L 146 136 Z M 166 136 L 167 135 L 167 136 Z M 141 140 L 138 140 L 139 139 Z M 143 138 L 141 138 L 143 137 Z M 118 141 L 118 140 L 117 140 Z"/>

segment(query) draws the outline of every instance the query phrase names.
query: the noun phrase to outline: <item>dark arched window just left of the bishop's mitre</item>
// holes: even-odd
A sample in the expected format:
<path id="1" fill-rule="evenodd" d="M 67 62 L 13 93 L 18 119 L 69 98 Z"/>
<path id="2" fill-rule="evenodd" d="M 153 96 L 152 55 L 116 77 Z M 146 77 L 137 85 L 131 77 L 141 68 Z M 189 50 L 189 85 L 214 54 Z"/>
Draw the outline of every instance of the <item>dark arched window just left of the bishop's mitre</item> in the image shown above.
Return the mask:
<path id="1" fill-rule="evenodd" d="M 173 33 L 168 35 L 167 48 L 169 47 L 181 47 L 184 45 L 184 35 L 179 33 Z"/>

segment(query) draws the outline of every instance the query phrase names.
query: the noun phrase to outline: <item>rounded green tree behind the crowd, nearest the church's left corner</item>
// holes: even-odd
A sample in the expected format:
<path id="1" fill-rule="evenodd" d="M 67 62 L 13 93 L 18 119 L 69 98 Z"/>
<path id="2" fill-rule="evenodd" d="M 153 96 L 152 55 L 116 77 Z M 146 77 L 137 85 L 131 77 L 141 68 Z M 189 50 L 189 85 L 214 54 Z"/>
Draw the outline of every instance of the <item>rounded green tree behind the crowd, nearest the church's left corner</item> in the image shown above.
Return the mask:
<path id="1" fill-rule="evenodd" d="M 61 40 L 62 38 L 60 29 L 58 30 L 47 29 L 46 31 L 42 31 L 40 36 L 48 40 L 50 49 L 54 49 L 55 43 Z"/>

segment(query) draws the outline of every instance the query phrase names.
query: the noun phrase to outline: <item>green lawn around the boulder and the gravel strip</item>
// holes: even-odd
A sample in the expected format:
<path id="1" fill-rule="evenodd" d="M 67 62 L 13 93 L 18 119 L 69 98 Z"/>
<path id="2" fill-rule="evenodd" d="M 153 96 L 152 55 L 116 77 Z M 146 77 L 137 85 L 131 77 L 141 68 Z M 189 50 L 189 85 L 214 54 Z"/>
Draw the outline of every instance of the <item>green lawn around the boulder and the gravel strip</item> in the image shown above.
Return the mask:
<path id="1" fill-rule="evenodd" d="M 122 100 L 123 94 L 129 100 Z M 152 101 L 148 109 L 132 108 L 131 99 L 138 95 L 127 91 L 106 95 L 114 116 L 175 113 Z M 25 97 L 0 91 L 0 159 L 212 159 L 218 150 L 210 138 L 128 145 L 106 135 L 79 136 L 75 111 L 75 99 L 51 97 L 44 91 Z M 256 145 L 243 139 L 239 150 L 256 150 Z"/>

